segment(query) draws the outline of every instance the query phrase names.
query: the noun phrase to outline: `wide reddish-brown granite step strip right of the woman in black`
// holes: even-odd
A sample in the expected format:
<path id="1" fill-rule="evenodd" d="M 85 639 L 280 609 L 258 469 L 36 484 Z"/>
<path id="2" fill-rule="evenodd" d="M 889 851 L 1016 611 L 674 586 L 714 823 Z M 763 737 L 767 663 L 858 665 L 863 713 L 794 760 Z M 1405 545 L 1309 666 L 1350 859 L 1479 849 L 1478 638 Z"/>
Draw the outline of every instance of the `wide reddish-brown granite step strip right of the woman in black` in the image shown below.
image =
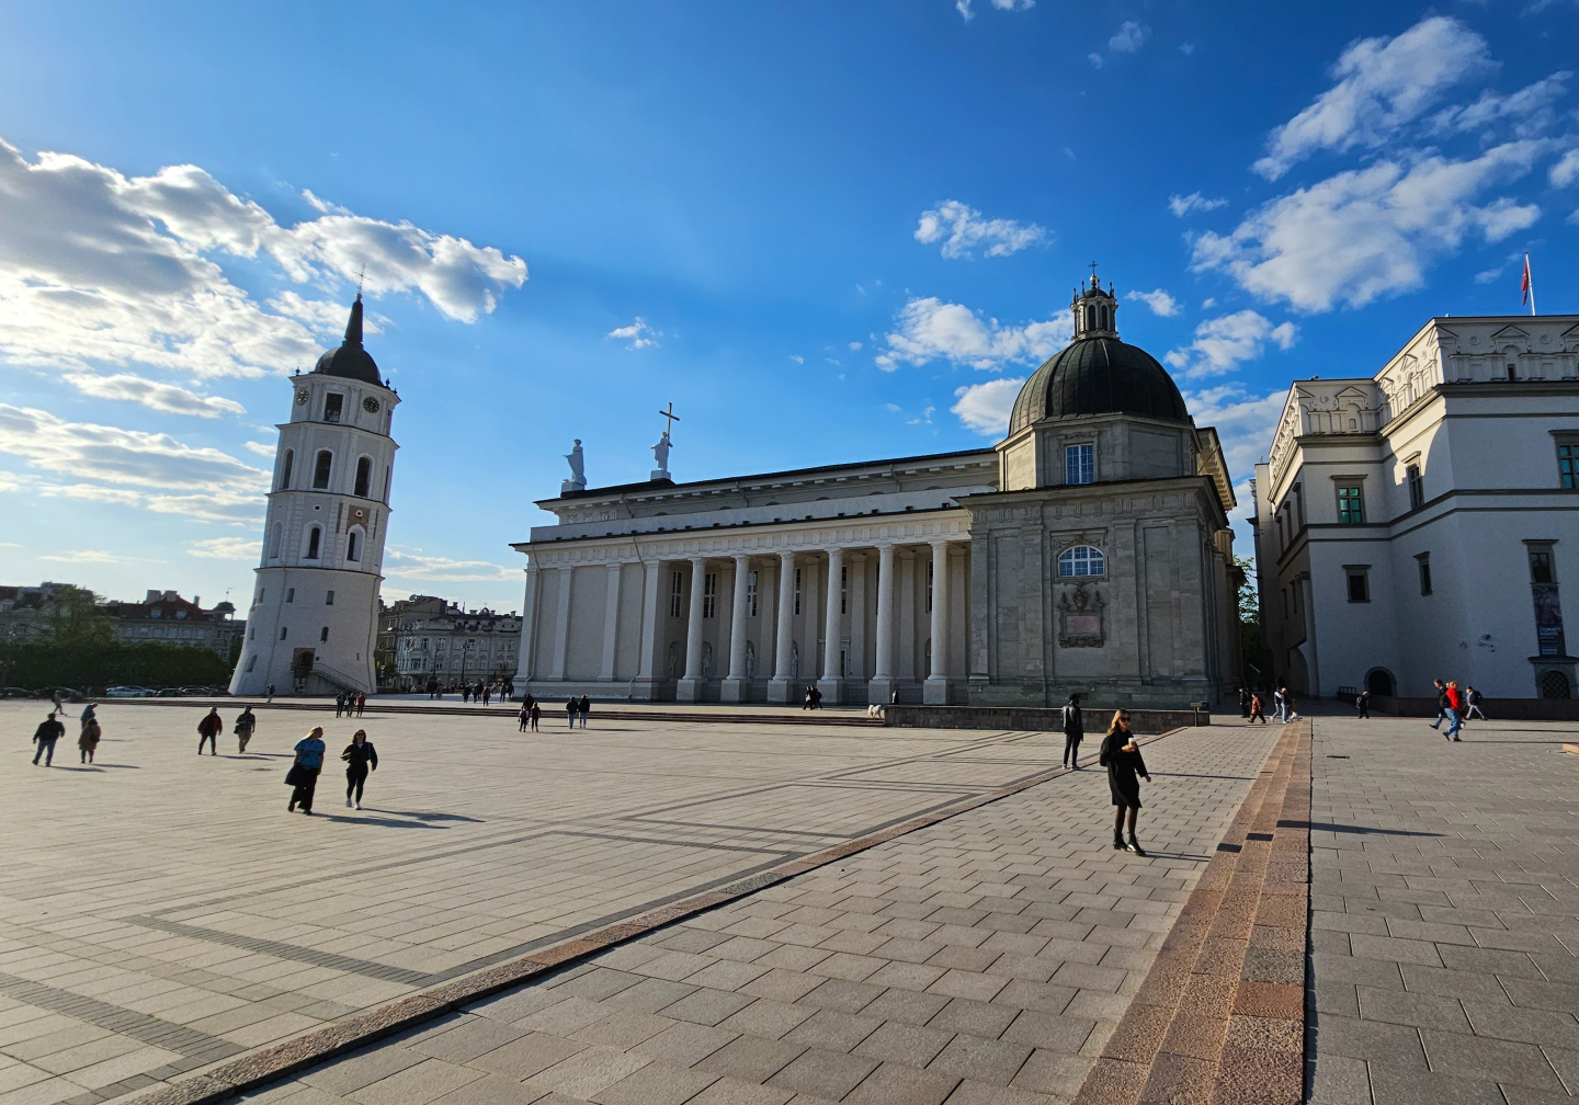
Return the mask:
<path id="1" fill-rule="evenodd" d="M 1285 728 L 1077 1105 L 1298 1102 L 1311 725 Z"/>

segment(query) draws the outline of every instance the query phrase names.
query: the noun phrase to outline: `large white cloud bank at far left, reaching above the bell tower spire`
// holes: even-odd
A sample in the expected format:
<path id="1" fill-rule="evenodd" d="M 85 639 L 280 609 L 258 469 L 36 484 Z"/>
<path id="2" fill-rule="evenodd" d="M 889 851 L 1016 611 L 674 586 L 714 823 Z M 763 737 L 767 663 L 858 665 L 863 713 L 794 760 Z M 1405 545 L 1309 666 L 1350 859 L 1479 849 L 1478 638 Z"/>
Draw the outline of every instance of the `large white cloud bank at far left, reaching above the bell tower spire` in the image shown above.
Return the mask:
<path id="1" fill-rule="evenodd" d="M 519 257 L 411 223 L 327 213 L 281 226 L 197 166 L 126 177 L 65 153 L 28 161 L 0 140 L 0 358 L 16 365 L 197 377 L 309 365 L 313 332 L 264 311 L 219 257 L 267 257 L 321 284 L 365 265 L 369 289 L 417 290 L 467 322 L 526 281 Z"/>

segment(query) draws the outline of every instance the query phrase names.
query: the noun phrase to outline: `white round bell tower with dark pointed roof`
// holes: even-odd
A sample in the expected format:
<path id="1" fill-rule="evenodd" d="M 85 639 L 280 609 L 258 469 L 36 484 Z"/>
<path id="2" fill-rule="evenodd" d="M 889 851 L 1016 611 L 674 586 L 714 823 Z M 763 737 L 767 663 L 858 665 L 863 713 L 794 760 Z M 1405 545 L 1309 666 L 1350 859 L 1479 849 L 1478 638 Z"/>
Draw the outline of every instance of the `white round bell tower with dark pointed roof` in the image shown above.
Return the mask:
<path id="1" fill-rule="evenodd" d="M 278 426 L 246 639 L 232 695 L 373 693 L 384 538 L 399 396 L 362 346 L 362 294 L 346 339 L 291 382 Z"/>

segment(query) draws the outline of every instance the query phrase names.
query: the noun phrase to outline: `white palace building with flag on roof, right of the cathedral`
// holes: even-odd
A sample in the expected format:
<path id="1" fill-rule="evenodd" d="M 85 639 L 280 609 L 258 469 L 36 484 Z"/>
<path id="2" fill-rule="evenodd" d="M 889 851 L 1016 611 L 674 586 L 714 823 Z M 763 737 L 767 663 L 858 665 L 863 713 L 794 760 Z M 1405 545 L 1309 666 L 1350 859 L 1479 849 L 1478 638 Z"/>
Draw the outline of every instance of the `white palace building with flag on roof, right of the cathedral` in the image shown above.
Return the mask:
<path id="1" fill-rule="evenodd" d="M 1374 376 L 1296 382 L 1254 527 L 1277 682 L 1574 698 L 1579 316 L 1431 319 Z"/>

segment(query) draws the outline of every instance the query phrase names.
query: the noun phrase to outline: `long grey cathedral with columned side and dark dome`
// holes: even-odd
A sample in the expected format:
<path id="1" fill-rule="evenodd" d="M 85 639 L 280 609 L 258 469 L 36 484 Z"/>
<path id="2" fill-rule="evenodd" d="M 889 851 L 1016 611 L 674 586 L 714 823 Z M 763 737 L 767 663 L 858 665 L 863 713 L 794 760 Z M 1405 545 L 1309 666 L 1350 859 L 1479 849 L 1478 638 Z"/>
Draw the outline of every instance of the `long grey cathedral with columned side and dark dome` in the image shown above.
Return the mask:
<path id="1" fill-rule="evenodd" d="M 1217 436 L 1096 281 L 995 448 L 611 488 L 527 557 L 540 698 L 1180 707 L 1240 679 Z M 666 440 L 666 439 L 665 439 Z M 579 458 L 578 458 L 579 459 Z M 654 475 L 660 475 L 655 472 Z"/>

